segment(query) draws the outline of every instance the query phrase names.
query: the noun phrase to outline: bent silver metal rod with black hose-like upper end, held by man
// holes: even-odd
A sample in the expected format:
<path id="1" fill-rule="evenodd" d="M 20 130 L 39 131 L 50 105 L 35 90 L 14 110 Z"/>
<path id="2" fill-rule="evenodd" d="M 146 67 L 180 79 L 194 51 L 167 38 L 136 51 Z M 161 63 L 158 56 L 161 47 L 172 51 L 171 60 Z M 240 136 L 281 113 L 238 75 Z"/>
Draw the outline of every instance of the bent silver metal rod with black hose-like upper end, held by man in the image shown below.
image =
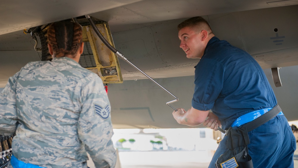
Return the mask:
<path id="1" fill-rule="evenodd" d="M 124 57 L 124 55 L 122 53 L 120 53 L 119 51 L 117 51 L 112 45 L 110 45 L 110 43 L 108 41 L 106 41 L 106 39 L 104 38 L 104 36 L 102 36 L 102 34 L 99 32 L 98 28 L 96 27 L 95 23 L 93 22 L 92 18 L 89 15 L 85 15 L 86 18 L 88 19 L 90 25 L 92 26 L 93 30 L 95 31 L 95 33 L 98 35 L 98 37 L 101 39 L 101 41 L 113 52 L 115 53 L 119 58 L 123 59 L 125 62 L 129 63 L 129 65 L 132 65 L 135 69 L 137 69 L 139 72 L 141 72 L 143 75 L 145 75 L 149 80 L 151 80 L 153 83 L 155 83 L 156 85 L 158 85 L 161 89 L 163 89 L 164 91 L 166 91 L 169 95 L 171 95 L 172 97 L 175 98 L 175 100 L 169 101 L 166 103 L 166 105 L 168 105 L 169 107 L 171 107 L 173 110 L 177 111 L 177 109 L 175 109 L 173 106 L 170 105 L 170 103 L 174 103 L 178 101 L 178 98 L 172 94 L 171 92 L 169 92 L 168 90 L 166 90 L 163 86 L 161 86 L 159 83 L 157 83 L 155 80 L 153 80 L 151 77 L 149 77 L 145 72 L 143 72 L 142 70 L 140 70 L 137 66 L 135 66 L 133 63 L 131 63 L 129 60 L 127 60 L 126 57 Z M 223 130 L 222 128 L 218 127 L 218 130 L 222 133 L 225 133 L 226 131 Z"/>

